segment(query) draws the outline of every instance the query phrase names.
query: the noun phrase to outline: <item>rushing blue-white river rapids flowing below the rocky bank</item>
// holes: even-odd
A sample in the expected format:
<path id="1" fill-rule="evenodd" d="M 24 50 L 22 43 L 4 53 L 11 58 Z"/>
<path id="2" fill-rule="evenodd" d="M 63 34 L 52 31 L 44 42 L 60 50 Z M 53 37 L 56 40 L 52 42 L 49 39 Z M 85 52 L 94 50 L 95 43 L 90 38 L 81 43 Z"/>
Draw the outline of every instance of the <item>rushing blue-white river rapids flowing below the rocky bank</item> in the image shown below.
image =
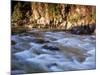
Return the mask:
<path id="1" fill-rule="evenodd" d="M 95 35 L 33 30 L 11 40 L 13 75 L 96 68 Z"/>

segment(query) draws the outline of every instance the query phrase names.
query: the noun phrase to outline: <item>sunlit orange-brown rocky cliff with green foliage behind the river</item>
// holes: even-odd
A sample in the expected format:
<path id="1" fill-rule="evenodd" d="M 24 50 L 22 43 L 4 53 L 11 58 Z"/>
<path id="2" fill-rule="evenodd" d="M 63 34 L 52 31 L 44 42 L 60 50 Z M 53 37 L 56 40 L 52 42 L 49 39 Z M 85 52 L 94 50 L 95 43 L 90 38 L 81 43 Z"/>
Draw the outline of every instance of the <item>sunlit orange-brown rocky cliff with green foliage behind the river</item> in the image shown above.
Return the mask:
<path id="1" fill-rule="evenodd" d="M 95 6 L 17 1 L 12 6 L 12 27 L 70 30 L 96 25 Z"/>

